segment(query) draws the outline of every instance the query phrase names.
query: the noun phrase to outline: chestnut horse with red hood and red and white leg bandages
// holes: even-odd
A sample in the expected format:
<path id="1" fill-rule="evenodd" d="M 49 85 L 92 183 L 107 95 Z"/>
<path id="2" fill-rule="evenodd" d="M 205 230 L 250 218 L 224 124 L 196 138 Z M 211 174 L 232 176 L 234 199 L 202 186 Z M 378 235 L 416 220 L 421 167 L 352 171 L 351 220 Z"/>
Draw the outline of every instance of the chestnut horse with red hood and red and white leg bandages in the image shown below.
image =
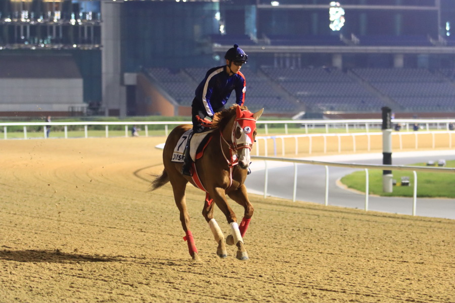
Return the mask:
<path id="1" fill-rule="evenodd" d="M 215 113 L 211 123 L 211 133 L 205 149 L 193 163 L 193 176 L 181 173 L 183 164 L 172 162 L 174 147 L 180 142 L 183 134 L 192 128 L 190 124 L 175 127 L 168 135 L 163 149 L 164 169 L 161 175 L 156 176 L 152 182 L 151 190 L 155 190 L 170 182 L 173 190 L 175 204 L 180 212 L 180 222 L 186 235 L 190 256 L 194 261 L 199 261 L 198 250 L 190 230 L 190 215 L 187 210 L 185 190 L 190 182 L 206 192 L 202 215 L 207 221 L 218 246 L 216 254 L 220 258 L 228 256 L 226 245 L 236 245 L 236 258 L 248 260 L 243 237 L 253 216 L 254 208 L 248 199 L 245 180 L 250 165 L 250 151 L 257 134 L 256 121 L 264 109 L 251 113 L 247 107 L 233 105 Z M 207 121 L 207 120 L 206 120 Z M 193 138 L 194 139 L 194 138 Z M 226 200 L 226 195 L 244 208 L 244 216 L 240 225 L 237 223 L 236 214 Z M 214 205 L 221 210 L 231 226 L 232 234 L 226 237 L 213 218 Z"/>

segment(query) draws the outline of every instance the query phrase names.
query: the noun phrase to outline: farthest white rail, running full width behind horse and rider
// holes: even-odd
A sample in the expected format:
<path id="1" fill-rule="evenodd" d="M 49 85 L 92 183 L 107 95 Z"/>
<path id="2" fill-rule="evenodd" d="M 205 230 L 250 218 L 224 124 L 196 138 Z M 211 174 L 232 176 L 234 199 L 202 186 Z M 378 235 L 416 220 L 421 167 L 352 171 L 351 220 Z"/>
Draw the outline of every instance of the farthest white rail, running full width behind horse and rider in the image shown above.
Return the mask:
<path id="1" fill-rule="evenodd" d="M 399 123 L 403 126 L 403 130 L 410 130 L 410 125 L 418 123 L 421 128 L 429 131 L 431 129 L 437 130 L 449 130 L 449 125 L 452 123 L 450 119 L 394 119 L 394 124 Z M 123 125 L 125 127 L 125 136 L 128 136 L 128 126 L 137 125 L 144 126 L 145 136 L 148 136 L 149 125 L 164 125 L 164 135 L 169 133 L 169 125 L 179 124 L 191 124 L 190 121 L 160 121 L 160 122 L 3 122 L 0 123 L 0 129 L 3 127 L 4 138 L 8 138 L 8 127 L 9 126 L 22 126 L 24 132 L 24 138 L 27 138 L 27 126 L 64 126 L 65 138 L 68 138 L 68 126 L 83 126 L 85 130 L 85 138 L 88 137 L 88 126 L 89 125 L 105 125 L 106 137 L 109 137 L 109 125 Z M 284 126 L 285 134 L 288 134 L 288 125 L 298 125 L 304 130 L 305 134 L 308 134 L 310 129 L 324 128 L 326 133 L 329 133 L 329 129 L 343 129 L 346 133 L 349 133 L 353 128 L 365 129 L 366 133 L 369 133 L 371 129 L 381 129 L 382 120 L 380 119 L 369 119 L 369 120 L 269 120 L 269 121 L 258 121 L 257 124 L 264 125 L 265 134 L 268 135 L 268 129 L 271 124 L 280 124 Z M 45 127 L 43 127 L 43 138 L 45 138 Z"/>

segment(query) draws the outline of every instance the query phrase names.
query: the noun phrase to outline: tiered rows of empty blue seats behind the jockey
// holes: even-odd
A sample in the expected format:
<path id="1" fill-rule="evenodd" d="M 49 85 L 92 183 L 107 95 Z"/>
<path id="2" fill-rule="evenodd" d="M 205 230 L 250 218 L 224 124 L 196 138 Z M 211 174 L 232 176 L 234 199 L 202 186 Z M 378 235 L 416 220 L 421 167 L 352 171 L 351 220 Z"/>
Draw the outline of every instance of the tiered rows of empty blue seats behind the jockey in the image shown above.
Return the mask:
<path id="1" fill-rule="evenodd" d="M 204 68 L 182 69 L 173 74 L 168 69 L 148 69 L 156 84 L 180 106 L 191 105 L 197 81 L 205 72 Z M 278 116 L 300 111 L 362 114 L 384 106 L 413 114 L 455 111 L 451 72 L 403 68 L 345 72 L 337 68 L 247 69 L 246 104 L 252 110 L 264 107 Z"/>

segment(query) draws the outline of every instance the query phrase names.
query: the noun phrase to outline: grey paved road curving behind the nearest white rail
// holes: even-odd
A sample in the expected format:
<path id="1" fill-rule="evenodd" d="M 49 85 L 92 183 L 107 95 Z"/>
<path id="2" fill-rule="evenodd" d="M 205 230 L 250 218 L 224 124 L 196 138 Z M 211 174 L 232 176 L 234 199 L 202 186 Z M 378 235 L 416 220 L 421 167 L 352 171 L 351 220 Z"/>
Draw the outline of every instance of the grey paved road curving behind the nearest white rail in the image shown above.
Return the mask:
<path id="1" fill-rule="evenodd" d="M 342 162 L 357 164 L 382 164 L 382 154 L 337 155 L 303 158 L 325 162 Z M 410 153 L 393 153 L 394 165 L 411 165 L 417 162 L 437 161 L 439 159 L 455 160 L 453 150 L 415 151 Z M 271 196 L 292 199 L 294 182 L 294 165 L 289 163 L 267 162 L 268 188 Z M 253 173 L 248 176 L 246 186 L 249 192 L 263 194 L 264 162 L 254 160 L 251 165 Z M 329 167 L 329 205 L 365 209 L 365 194 L 355 193 L 337 186 L 336 181 L 356 169 Z M 358 169 L 357 169 L 358 170 Z M 318 204 L 325 203 L 324 166 L 299 164 L 297 166 L 298 183 L 296 199 Z M 411 182 L 413 173 L 410 172 Z M 417 173 L 419 179 L 419 172 Z M 370 211 L 412 215 L 413 198 L 369 197 Z M 455 199 L 417 198 L 417 216 L 455 219 Z"/>

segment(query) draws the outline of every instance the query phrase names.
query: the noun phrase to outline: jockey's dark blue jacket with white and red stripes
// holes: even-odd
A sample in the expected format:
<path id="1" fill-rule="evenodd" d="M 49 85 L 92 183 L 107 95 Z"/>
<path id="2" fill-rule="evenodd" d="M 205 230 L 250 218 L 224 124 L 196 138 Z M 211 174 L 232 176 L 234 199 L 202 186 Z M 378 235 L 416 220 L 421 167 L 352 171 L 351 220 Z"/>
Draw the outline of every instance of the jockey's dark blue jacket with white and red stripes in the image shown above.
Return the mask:
<path id="1" fill-rule="evenodd" d="M 245 76 L 241 72 L 229 76 L 224 65 L 209 69 L 195 94 L 200 106 L 212 117 L 228 102 L 233 90 L 236 91 L 236 103 L 242 106 L 245 102 Z"/>

